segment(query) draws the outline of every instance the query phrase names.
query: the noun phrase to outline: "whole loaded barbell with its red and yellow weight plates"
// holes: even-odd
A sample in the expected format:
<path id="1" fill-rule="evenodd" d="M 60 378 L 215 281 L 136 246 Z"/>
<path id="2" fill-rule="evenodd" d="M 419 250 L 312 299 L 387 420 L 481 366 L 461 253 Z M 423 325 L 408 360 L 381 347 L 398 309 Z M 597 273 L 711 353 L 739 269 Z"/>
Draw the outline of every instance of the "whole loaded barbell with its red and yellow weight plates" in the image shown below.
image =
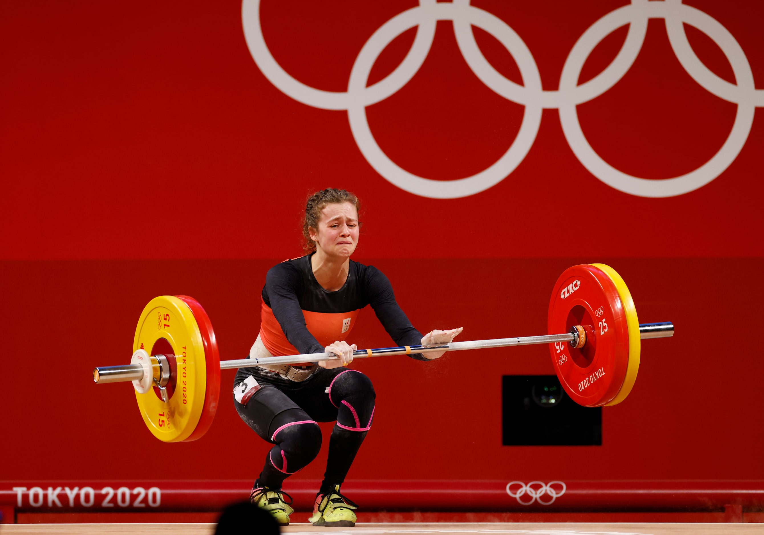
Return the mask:
<path id="1" fill-rule="evenodd" d="M 433 351 L 549 344 L 565 392 L 585 407 L 614 405 L 631 392 L 641 340 L 671 337 L 669 322 L 639 324 L 634 301 L 615 269 L 581 264 L 565 270 L 549 301 L 550 334 L 471 340 L 431 346 L 354 351 L 354 359 Z M 201 438 L 218 408 L 220 370 L 338 359 L 332 353 L 220 360 L 215 331 L 202 305 L 187 295 L 149 301 L 138 320 L 133 356 L 125 366 L 93 369 L 96 383 L 132 381 L 144 422 L 160 440 Z"/>

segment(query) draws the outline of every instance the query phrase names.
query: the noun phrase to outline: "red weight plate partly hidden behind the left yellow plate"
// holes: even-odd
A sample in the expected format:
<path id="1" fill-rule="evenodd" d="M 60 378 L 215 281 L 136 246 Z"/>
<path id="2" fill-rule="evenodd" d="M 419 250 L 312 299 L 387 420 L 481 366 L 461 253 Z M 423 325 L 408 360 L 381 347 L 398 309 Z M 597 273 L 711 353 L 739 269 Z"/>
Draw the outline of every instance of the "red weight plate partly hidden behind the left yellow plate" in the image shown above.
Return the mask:
<path id="1" fill-rule="evenodd" d="M 218 341 L 215 339 L 215 331 L 212 330 L 212 323 L 209 321 L 209 317 L 204 308 L 202 308 L 202 305 L 199 305 L 199 301 L 188 295 L 176 295 L 175 297 L 189 305 L 193 312 L 193 317 L 196 319 L 196 324 L 199 325 L 199 331 L 202 333 L 202 341 L 204 343 L 204 360 L 207 372 L 204 408 L 202 408 L 202 415 L 199 417 L 199 424 L 196 424 L 196 429 L 184 440 L 184 442 L 190 442 L 191 440 L 202 438 L 209 429 L 209 426 L 212 425 L 212 420 L 215 419 L 215 412 L 218 411 L 220 354 L 218 352 Z"/>

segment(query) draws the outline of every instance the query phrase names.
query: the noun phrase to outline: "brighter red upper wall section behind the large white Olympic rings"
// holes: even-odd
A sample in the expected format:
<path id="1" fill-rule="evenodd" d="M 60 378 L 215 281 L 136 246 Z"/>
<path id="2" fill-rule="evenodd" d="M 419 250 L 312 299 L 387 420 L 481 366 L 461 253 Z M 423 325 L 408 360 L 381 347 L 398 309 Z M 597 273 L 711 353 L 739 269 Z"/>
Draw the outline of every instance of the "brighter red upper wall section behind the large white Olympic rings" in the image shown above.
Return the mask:
<path id="1" fill-rule="evenodd" d="M 520 34 L 546 90 L 557 88 L 578 37 L 625 3 L 478 2 Z M 288 72 L 341 91 L 368 37 L 415 2 L 327 4 L 265 0 L 262 25 Z M 762 5 L 691 5 L 730 30 L 764 84 Z M 345 111 L 296 102 L 262 75 L 244 41 L 239 2 L 0 9 L 3 258 L 287 258 L 295 256 L 306 193 L 329 185 L 366 202 L 361 247 L 372 257 L 764 254 L 760 108 L 730 168 L 687 195 L 642 198 L 605 185 L 578 162 L 558 111 L 549 109 L 507 179 L 467 198 L 422 198 L 372 169 Z M 367 110 L 390 158 L 434 179 L 485 169 L 510 146 L 523 113 L 471 74 L 450 25 L 439 23 L 416 76 Z M 594 50 L 581 82 L 610 63 L 624 33 Z M 411 37 L 393 41 L 373 81 L 397 65 Z M 497 41 L 481 31 L 478 38 L 497 69 L 516 78 Z M 713 41 L 694 28 L 688 38 L 719 76 L 732 76 Z M 660 19 L 649 22 L 623 79 L 578 108 L 592 147 L 649 179 L 710 159 L 736 113 L 682 69 Z M 571 233 L 585 237 L 571 246 Z"/>

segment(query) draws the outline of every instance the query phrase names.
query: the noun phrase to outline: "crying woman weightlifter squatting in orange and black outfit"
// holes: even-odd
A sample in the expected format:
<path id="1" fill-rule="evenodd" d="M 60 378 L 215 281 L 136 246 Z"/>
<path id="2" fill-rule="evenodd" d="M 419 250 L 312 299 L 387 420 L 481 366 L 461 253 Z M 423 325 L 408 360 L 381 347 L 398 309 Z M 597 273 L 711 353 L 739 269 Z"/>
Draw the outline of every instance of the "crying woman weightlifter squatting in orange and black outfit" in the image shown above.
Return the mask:
<path id="1" fill-rule="evenodd" d="M 371 381 L 344 367 L 358 349 L 345 342 L 358 311 L 371 305 L 397 346 L 448 343 L 461 333 L 460 327 L 422 337 L 395 301 L 387 277 L 350 259 L 358 245 L 358 205 L 358 198 L 344 189 L 324 189 L 308 199 L 303 224 L 307 254 L 268 271 L 260 334 L 249 353 L 260 358 L 326 352 L 339 359 L 241 368 L 234 381 L 239 416 L 274 444 L 250 499 L 282 525 L 289 524 L 293 510 L 281 485 L 318 455 L 321 430 L 316 422 L 326 421 L 337 423 L 310 521 L 314 526 L 355 525 L 357 506 L 342 495 L 340 485 L 374 420 Z M 411 357 L 433 360 L 442 354 Z"/>

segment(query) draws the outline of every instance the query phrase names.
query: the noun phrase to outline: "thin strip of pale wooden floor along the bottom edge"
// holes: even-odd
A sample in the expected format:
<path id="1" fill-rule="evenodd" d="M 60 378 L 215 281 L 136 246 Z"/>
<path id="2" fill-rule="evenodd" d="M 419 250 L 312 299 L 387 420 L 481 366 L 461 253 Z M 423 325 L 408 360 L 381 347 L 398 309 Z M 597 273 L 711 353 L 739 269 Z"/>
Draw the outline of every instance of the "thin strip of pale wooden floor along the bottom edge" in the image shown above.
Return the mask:
<path id="1" fill-rule="evenodd" d="M 215 524 L 0 524 L 0 533 L 27 535 L 95 535 L 96 533 L 141 533 L 141 535 L 212 535 Z M 419 535 L 420 533 L 488 533 L 489 535 L 764 535 L 764 524 L 364 524 L 356 527 L 313 527 L 292 524 L 282 533 L 347 533 L 348 535 Z"/>

